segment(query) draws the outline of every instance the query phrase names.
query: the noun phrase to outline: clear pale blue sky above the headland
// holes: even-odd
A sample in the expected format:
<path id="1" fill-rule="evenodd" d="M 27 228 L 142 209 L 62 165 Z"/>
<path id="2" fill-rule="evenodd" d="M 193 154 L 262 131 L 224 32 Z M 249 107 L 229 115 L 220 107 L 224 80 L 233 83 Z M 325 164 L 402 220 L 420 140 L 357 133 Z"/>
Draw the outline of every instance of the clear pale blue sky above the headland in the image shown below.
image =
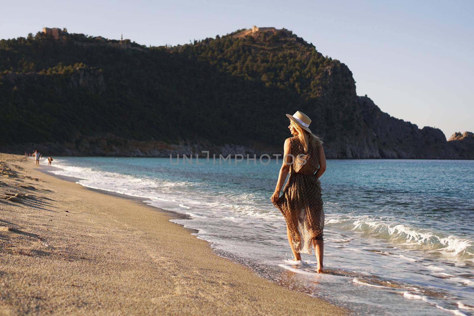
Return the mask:
<path id="1" fill-rule="evenodd" d="M 73 3 L 75 2 L 75 3 Z M 228 3 L 227 3 L 228 2 Z M 2 1 L 0 38 L 43 26 L 185 44 L 239 28 L 285 27 L 346 63 L 357 94 L 447 137 L 474 132 L 474 1 Z"/>

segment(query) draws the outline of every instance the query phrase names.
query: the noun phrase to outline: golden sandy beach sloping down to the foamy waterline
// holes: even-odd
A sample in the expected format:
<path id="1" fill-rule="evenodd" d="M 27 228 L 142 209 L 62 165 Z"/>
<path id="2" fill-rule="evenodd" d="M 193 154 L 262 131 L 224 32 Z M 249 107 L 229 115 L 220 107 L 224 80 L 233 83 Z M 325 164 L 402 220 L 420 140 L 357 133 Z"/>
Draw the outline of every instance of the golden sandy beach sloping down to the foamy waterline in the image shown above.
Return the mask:
<path id="1" fill-rule="evenodd" d="M 0 315 L 348 314 L 219 257 L 170 212 L 0 162 Z"/>

